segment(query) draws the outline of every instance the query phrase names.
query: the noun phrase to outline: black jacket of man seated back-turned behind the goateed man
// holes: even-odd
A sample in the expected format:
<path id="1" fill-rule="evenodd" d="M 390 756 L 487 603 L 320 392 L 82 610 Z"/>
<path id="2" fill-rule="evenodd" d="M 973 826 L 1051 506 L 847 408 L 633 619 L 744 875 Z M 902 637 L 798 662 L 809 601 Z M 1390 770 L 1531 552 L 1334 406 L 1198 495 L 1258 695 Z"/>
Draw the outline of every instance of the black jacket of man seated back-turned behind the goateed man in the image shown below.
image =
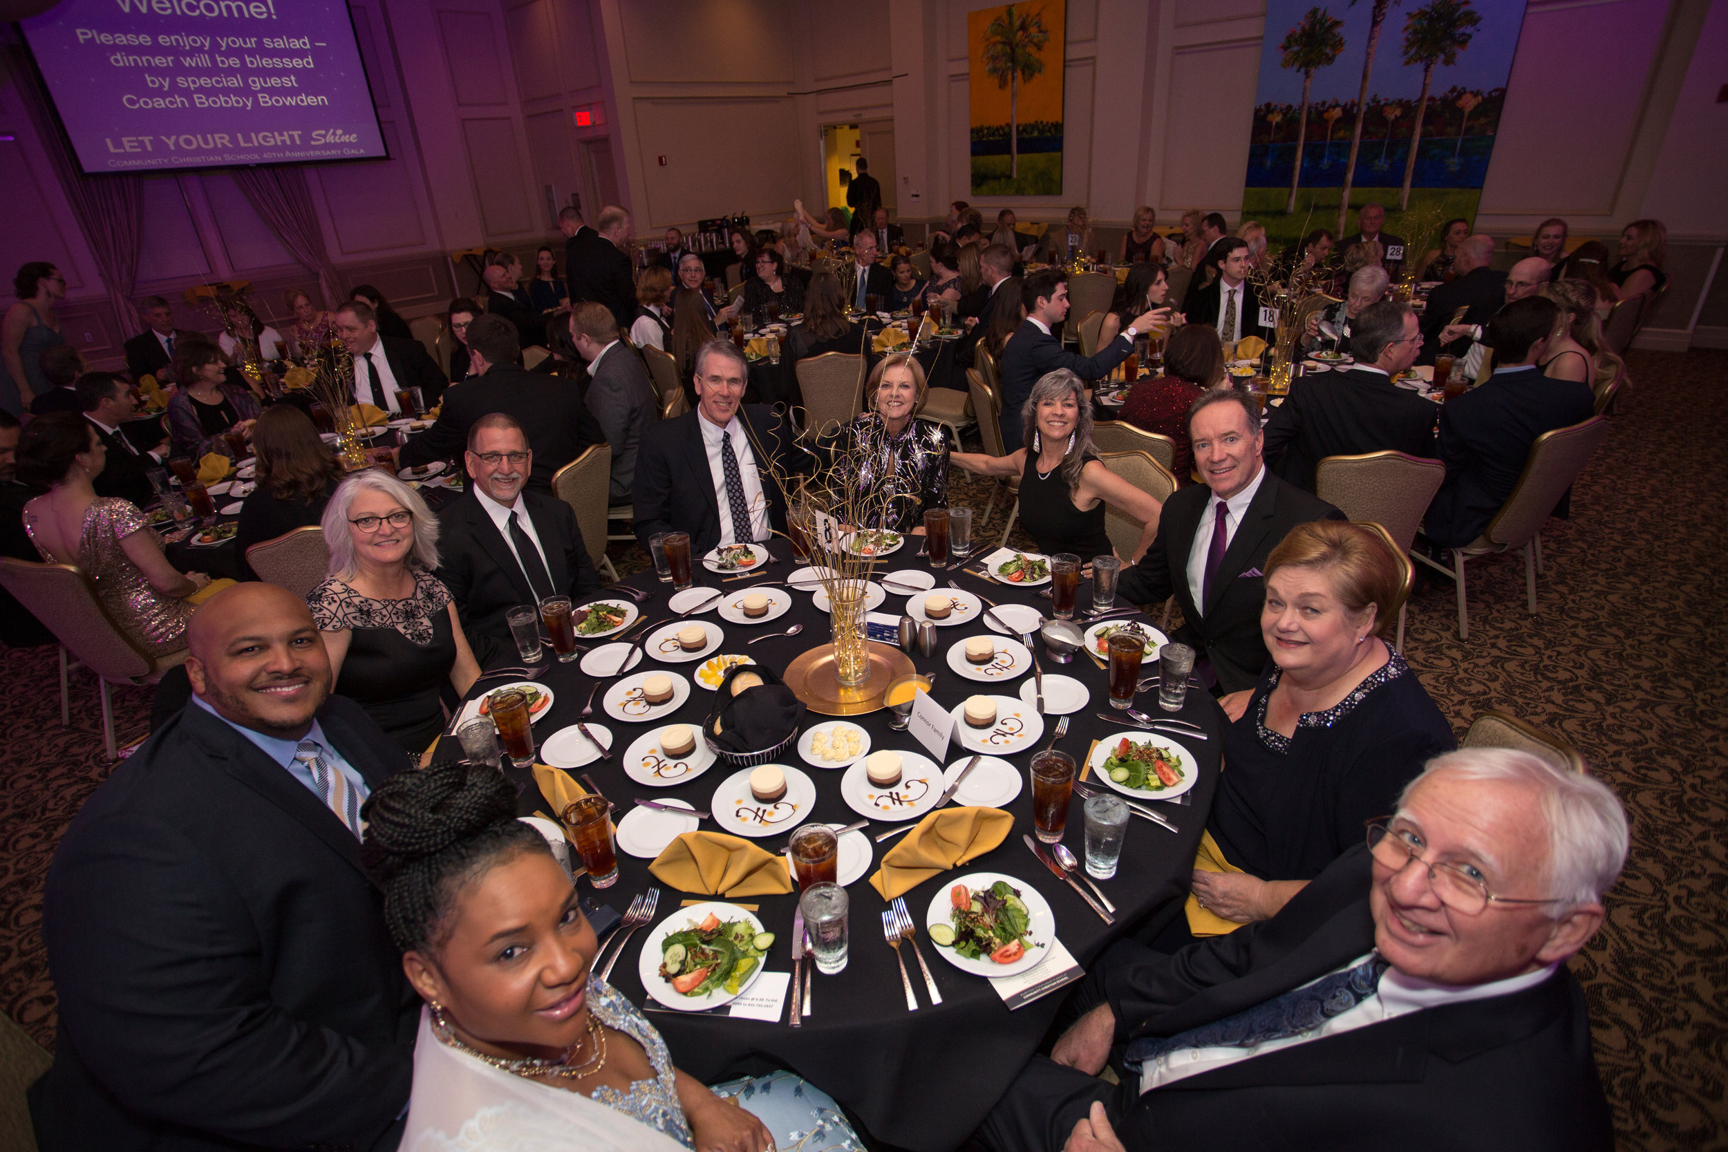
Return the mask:
<path id="1" fill-rule="evenodd" d="M 582 451 L 582 394 L 562 377 L 543 377 L 515 364 L 494 364 L 484 377 L 458 380 L 444 390 L 444 409 L 425 432 L 403 444 L 403 468 L 454 459 L 468 446 L 468 428 L 489 413 L 517 418 L 534 449 L 529 487 L 551 494 L 551 475 Z"/>

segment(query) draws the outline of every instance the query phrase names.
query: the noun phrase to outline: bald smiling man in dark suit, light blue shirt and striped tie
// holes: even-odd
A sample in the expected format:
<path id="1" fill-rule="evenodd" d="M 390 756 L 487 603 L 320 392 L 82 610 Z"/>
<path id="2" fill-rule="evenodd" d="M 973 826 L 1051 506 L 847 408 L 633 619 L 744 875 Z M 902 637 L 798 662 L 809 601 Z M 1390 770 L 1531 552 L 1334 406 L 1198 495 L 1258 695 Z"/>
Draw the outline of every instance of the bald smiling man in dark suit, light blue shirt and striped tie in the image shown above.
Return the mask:
<path id="1" fill-rule="evenodd" d="M 188 629 L 195 698 L 104 782 L 43 900 L 43 1152 L 389 1152 L 420 998 L 361 870 L 361 803 L 406 769 L 330 693 L 304 601 L 240 584 Z"/>

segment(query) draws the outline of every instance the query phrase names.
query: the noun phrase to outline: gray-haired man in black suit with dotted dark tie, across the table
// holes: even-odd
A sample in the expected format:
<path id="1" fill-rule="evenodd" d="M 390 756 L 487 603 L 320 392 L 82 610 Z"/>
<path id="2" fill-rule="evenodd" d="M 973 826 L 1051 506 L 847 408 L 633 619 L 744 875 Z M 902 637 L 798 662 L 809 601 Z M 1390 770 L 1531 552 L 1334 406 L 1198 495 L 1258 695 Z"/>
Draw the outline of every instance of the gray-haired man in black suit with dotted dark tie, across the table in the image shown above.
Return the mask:
<path id="1" fill-rule="evenodd" d="M 700 556 L 786 530 L 786 497 L 767 468 L 802 473 L 809 458 L 785 416 L 745 406 L 748 382 L 743 352 L 710 340 L 696 352 L 696 411 L 648 427 L 636 458 L 636 539 L 645 546 L 657 532 L 688 532 Z"/>

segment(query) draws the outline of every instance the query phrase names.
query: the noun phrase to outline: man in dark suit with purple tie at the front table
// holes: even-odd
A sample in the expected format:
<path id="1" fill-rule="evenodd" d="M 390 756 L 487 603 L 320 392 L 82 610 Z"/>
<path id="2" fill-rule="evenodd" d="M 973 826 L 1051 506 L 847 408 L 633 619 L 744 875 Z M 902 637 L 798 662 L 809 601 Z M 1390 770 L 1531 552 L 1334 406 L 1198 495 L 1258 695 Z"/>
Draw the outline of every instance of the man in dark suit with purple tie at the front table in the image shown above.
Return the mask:
<path id="1" fill-rule="evenodd" d="M 1130 604 L 1173 594 L 1182 627 L 1172 639 L 1210 661 L 1196 663 L 1198 675 L 1204 679 L 1210 667 L 1222 693 L 1242 693 L 1267 667 L 1260 636 L 1267 556 L 1298 523 L 1344 513 L 1267 472 L 1260 409 L 1244 392 L 1215 389 L 1194 401 L 1189 440 L 1201 484 L 1165 501 L 1158 535 L 1118 589 Z"/>

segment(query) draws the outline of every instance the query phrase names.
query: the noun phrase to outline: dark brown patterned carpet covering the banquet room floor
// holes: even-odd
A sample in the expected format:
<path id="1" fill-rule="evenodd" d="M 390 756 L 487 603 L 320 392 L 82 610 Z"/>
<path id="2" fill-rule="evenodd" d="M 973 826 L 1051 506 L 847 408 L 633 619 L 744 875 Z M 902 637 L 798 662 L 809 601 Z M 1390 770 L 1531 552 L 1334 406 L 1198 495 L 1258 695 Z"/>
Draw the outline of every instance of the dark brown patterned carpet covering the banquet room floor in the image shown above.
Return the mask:
<path id="1" fill-rule="evenodd" d="M 1576 487 L 1574 520 L 1545 535 L 1541 613 L 1524 611 L 1515 554 L 1479 560 L 1471 642 L 1457 639 L 1450 585 L 1433 587 L 1410 604 L 1405 655 L 1460 736 L 1486 708 L 1514 712 L 1562 732 L 1626 801 L 1631 864 L 1572 967 L 1621 1149 L 1709 1149 L 1728 1142 L 1728 539 L 1702 497 L 1728 477 L 1707 416 L 1728 352 L 1636 352 L 1631 371 L 1636 387 Z M 983 492 L 956 473 L 954 503 L 982 513 Z M 632 546 L 612 554 L 622 572 L 641 567 Z M 100 703 L 74 674 L 73 724 L 60 727 L 52 648 L 0 651 L 0 686 L 12 701 L 0 748 L 0 1010 L 50 1045 L 41 883 L 109 770 Z M 121 743 L 140 739 L 149 693 L 114 699 Z"/>

